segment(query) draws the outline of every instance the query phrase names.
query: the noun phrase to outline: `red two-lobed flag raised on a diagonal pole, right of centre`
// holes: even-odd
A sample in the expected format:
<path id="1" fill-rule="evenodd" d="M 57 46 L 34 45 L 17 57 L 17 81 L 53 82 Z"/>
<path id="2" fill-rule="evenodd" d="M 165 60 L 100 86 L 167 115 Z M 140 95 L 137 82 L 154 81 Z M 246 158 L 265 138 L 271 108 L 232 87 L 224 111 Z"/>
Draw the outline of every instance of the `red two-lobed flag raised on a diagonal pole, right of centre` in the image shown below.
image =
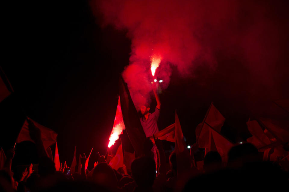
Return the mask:
<path id="1" fill-rule="evenodd" d="M 225 118 L 217 110 L 217 108 L 213 105 L 212 102 L 203 122 L 200 123 L 196 128 L 196 138 L 200 148 L 205 148 L 206 146 L 208 146 L 209 142 L 209 126 L 206 123 L 208 123 L 214 128 L 214 130 L 220 133 L 224 122 Z"/>

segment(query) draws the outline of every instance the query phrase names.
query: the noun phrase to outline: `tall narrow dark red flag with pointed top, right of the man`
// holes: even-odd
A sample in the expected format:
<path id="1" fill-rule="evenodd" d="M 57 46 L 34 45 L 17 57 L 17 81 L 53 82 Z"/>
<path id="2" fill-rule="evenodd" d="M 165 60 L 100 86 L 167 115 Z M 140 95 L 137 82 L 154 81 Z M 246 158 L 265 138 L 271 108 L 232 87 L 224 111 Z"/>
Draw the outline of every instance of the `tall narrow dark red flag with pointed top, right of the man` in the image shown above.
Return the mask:
<path id="1" fill-rule="evenodd" d="M 175 145 L 177 159 L 177 175 L 188 172 L 191 169 L 191 159 L 182 132 L 179 117 L 175 111 Z"/>

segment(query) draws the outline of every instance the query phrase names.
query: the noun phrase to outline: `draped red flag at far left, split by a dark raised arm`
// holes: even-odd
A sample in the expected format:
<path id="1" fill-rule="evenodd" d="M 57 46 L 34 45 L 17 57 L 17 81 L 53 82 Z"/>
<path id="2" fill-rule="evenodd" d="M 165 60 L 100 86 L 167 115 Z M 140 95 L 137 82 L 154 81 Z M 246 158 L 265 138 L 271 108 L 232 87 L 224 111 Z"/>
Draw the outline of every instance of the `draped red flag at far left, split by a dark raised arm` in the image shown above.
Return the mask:
<path id="1" fill-rule="evenodd" d="M 27 119 L 32 121 L 34 123 L 34 125 L 36 126 L 36 128 L 40 129 L 41 140 L 43 142 L 43 146 L 45 149 L 47 149 L 48 147 L 50 147 L 52 144 L 54 144 L 56 142 L 57 133 L 55 133 L 53 130 L 51 130 L 49 128 L 44 127 L 43 125 L 40 125 L 39 123 L 33 121 L 29 117 L 27 117 Z M 25 122 L 24 122 L 24 124 L 20 130 L 20 133 L 17 137 L 16 143 L 20 143 L 22 141 L 31 141 L 34 143 L 34 141 L 30 138 L 30 135 L 29 135 L 29 128 L 28 128 L 27 119 L 25 119 Z"/>

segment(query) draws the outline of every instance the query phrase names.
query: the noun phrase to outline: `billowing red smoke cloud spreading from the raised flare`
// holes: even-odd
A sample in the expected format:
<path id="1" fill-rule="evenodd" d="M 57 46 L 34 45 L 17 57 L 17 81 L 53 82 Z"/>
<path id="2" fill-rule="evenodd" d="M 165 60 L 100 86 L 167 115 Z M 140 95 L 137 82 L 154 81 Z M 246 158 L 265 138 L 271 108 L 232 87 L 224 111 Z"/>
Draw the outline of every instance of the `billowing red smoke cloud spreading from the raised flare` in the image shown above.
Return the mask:
<path id="1" fill-rule="evenodd" d="M 219 57 L 231 61 L 226 68 L 242 65 L 249 72 L 238 78 L 250 77 L 255 86 L 273 86 L 276 64 L 287 67 L 280 61 L 288 49 L 288 16 L 281 1 L 103 0 L 92 7 L 104 25 L 126 29 L 131 39 L 123 78 L 136 106 L 149 102 L 152 55 L 162 58 L 155 75 L 162 88 L 169 85 L 171 66 L 183 77 L 194 77 L 200 66 L 216 70 Z"/>

